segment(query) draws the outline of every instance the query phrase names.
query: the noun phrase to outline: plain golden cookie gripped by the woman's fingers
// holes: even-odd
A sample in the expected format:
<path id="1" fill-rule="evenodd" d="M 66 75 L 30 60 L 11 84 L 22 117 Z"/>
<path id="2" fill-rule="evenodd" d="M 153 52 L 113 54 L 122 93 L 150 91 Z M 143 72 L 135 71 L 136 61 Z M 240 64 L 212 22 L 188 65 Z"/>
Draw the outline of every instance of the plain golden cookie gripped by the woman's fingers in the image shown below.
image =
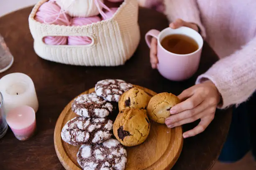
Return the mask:
<path id="1" fill-rule="evenodd" d="M 172 93 L 159 93 L 148 102 L 148 117 L 155 122 L 164 124 L 166 117 L 170 116 L 170 109 L 179 102 L 179 98 Z"/>

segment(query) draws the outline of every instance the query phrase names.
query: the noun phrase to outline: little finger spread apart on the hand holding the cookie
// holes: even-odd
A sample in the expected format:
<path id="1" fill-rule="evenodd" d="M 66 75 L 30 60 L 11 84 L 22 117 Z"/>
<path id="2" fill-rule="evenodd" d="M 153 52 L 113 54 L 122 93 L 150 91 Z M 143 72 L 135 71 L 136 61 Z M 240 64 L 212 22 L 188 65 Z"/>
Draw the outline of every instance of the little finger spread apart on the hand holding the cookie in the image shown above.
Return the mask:
<path id="1" fill-rule="evenodd" d="M 183 138 L 189 138 L 202 133 L 214 119 L 214 113 L 201 118 L 200 123 L 192 130 L 183 133 Z"/>

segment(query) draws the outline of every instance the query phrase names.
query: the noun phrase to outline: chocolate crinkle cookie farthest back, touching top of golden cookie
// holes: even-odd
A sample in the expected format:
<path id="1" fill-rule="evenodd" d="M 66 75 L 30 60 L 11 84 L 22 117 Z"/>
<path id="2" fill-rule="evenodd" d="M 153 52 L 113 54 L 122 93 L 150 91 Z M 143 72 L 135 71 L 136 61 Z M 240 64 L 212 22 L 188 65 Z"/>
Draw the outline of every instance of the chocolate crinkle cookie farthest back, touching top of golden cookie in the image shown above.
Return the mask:
<path id="1" fill-rule="evenodd" d="M 105 100 L 118 102 L 120 96 L 131 88 L 133 88 L 133 85 L 123 80 L 106 79 L 97 82 L 95 92 Z"/>

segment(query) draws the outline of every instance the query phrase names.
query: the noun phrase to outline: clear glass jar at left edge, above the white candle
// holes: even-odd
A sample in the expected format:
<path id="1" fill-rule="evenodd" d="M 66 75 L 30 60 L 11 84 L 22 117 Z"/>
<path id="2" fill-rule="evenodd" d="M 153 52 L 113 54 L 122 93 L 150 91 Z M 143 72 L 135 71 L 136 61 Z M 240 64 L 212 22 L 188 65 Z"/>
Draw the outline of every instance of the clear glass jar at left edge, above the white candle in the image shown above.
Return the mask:
<path id="1" fill-rule="evenodd" d="M 13 65 L 13 55 L 0 35 L 0 72 L 4 72 Z"/>

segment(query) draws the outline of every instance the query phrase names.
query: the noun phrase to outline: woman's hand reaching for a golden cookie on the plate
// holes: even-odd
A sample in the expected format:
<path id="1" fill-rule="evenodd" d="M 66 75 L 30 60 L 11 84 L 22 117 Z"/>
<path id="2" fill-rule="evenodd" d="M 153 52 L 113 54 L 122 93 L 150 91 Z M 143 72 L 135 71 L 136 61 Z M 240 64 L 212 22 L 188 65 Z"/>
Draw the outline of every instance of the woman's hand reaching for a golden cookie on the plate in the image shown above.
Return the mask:
<path id="1" fill-rule="evenodd" d="M 166 118 L 165 124 L 168 128 L 174 128 L 201 119 L 194 129 L 183 133 L 183 137 L 202 133 L 212 122 L 220 102 L 218 89 L 207 80 L 184 90 L 178 97 L 182 102 L 171 108 L 171 116 Z"/>

